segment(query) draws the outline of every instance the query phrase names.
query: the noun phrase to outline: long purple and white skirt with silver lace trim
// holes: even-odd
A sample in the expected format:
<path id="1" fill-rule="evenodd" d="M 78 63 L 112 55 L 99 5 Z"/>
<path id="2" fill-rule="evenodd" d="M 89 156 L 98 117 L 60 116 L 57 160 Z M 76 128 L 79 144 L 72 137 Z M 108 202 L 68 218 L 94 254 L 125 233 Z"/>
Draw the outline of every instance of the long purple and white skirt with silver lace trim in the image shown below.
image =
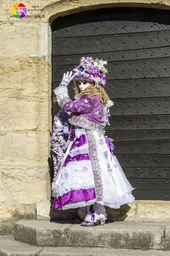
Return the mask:
<path id="1" fill-rule="evenodd" d="M 53 207 L 69 209 L 97 202 L 116 209 L 133 202 L 132 190 L 104 135 L 75 128 L 75 137 L 52 186 Z"/>

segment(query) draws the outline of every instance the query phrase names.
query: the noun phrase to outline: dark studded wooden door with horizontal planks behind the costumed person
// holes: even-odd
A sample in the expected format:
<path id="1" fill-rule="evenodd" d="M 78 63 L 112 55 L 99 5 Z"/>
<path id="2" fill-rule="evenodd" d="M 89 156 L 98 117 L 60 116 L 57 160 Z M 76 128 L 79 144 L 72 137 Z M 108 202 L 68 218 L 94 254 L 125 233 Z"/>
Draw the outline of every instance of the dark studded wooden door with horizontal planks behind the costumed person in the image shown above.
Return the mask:
<path id="1" fill-rule="evenodd" d="M 52 90 L 82 56 L 108 61 L 105 88 L 115 104 L 106 134 L 136 200 L 170 200 L 170 11 L 109 8 L 56 19 Z"/>

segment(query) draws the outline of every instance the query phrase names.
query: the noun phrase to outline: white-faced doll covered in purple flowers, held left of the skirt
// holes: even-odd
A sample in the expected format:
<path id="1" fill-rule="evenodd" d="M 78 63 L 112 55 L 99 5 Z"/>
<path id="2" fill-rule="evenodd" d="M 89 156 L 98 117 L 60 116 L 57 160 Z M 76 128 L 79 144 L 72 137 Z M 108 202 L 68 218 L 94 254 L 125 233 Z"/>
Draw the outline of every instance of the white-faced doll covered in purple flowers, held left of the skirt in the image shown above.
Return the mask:
<path id="1" fill-rule="evenodd" d="M 59 111 L 54 117 L 54 125 L 51 136 L 51 151 L 54 167 L 54 175 L 52 180 L 52 186 L 55 183 L 58 175 L 62 159 L 68 146 L 67 140 L 71 126 L 68 123 L 69 113 L 66 111 Z"/>

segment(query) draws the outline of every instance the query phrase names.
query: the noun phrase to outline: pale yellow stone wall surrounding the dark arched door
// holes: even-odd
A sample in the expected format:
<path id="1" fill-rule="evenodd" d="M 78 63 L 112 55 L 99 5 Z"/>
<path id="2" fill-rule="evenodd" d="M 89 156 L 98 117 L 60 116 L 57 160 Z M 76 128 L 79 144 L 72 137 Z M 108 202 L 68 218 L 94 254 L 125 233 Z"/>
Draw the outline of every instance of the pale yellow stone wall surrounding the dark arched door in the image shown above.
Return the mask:
<path id="1" fill-rule="evenodd" d="M 43 0 L 39 4 L 43 12 L 27 14 L 45 17 L 19 20 L 10 17 L 13 4 L 7 0 L 0 8 L 0 234 L 11 233 L 18 219 L 35 219 L 36 205 L 51 196 L 52 21 L 61 15 L 114 6 L 170 9 L 168 0 Z M 32 9 L 35 1 L 25 4 Z M 161 203 L 161 209 L 164 206 Z M 131 215 L 136 203 L 133 207 Z M 150 208 L 142 202 L 138 207 Z"/>

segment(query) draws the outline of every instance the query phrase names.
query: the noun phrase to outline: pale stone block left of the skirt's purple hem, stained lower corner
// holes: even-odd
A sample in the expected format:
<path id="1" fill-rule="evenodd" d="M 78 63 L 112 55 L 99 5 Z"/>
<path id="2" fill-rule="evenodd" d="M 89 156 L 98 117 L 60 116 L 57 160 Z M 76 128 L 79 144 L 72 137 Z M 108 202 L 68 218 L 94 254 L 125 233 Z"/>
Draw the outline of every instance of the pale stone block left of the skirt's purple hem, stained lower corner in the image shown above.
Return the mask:
<path id="1" fill-rule="evenodd" d="M 1 169 L 3 184 L 17 204 L 36 204 L 49 196 L 47 173 L 44 168 Z"/>

